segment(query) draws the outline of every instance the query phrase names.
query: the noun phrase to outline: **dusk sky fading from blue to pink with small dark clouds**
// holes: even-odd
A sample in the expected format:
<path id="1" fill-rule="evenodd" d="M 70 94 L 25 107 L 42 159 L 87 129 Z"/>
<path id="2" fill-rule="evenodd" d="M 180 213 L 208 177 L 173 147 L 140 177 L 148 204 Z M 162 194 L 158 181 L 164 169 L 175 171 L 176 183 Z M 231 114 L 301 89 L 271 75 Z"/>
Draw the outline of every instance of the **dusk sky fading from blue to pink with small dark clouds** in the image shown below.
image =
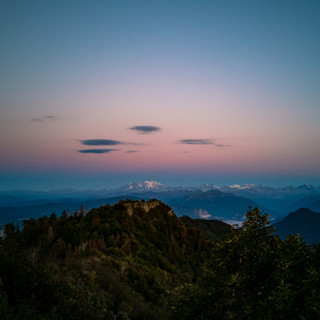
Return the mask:
<path id="1" fill-rule="evenodd" d="M 320 185 L 320 2 L 0 0 L 0 189 Z"/>

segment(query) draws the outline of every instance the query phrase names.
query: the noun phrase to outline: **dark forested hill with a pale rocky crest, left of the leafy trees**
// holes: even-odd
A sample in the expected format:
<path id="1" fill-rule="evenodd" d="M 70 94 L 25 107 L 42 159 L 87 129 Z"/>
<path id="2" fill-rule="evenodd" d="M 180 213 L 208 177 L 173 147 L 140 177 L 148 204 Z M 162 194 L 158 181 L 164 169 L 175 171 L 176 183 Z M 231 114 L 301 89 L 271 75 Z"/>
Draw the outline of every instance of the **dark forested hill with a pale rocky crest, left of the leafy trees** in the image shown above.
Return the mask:
<path id="1" fill-rule="evenodd" d="M 207 227 L 216 239 L 230 230 Z M 168 319 L 168 292 L 198 279 L 214 246 L 158 200 L 9 224 L 4 238 L 0 290 L 18 319 Z"/>

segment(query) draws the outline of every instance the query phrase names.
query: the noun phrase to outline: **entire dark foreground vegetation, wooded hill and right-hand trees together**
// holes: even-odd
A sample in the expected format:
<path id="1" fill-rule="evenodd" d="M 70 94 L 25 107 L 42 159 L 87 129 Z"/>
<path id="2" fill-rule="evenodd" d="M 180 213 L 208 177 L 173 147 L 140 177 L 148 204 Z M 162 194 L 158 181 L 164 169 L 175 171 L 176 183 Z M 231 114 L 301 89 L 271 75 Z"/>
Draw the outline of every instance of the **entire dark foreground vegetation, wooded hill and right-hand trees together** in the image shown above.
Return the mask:
<path id="1" fill-rule="evenodd" d="M 257 208 L 231 230 L 120 201 L 0 242 L 1 319 L 318 319 L 319 287 L 319 245 L 281 240 Z"/>

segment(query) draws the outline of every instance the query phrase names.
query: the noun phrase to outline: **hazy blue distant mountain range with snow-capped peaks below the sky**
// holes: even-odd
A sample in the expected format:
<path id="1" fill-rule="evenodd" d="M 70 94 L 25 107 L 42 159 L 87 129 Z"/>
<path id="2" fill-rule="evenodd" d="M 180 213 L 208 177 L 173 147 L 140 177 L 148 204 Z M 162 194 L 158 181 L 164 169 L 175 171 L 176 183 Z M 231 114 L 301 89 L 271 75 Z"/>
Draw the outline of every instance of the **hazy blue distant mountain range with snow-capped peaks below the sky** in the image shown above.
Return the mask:
<path id="1" fill-rule="evenodd" d="M 231 224 L 241 224 L 248 207 L 259 207 L 271 215 L 275 223 L 301 208 L 320 212 L 320 186 L 274 188 L 254 184 L 223 187 L 202 184 L 168 187 L 157 181 L 141 181 L 110 190 L 0 191 L 0 224 L 39 218 L 44 214 L 60 215 L 63 211 L 88 211 L 120 199 L 159 199 L 180 217 L 217 219 Z"/>

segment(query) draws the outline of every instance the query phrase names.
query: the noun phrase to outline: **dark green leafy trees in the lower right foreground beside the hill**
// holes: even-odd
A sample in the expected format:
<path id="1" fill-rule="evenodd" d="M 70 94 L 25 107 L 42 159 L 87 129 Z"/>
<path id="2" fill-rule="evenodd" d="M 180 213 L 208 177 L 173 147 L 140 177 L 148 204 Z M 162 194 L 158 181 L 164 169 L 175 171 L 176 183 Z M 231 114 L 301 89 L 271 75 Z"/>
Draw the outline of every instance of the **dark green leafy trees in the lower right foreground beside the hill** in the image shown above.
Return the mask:
<path id="1" fill-rule="evenodd" d="M 175 318 L 318 319 L 314 247 L 272 233 L 268 216 L 249 209 L 242 227 L 214 248 L 197 285 L 175 293 Z"/>

